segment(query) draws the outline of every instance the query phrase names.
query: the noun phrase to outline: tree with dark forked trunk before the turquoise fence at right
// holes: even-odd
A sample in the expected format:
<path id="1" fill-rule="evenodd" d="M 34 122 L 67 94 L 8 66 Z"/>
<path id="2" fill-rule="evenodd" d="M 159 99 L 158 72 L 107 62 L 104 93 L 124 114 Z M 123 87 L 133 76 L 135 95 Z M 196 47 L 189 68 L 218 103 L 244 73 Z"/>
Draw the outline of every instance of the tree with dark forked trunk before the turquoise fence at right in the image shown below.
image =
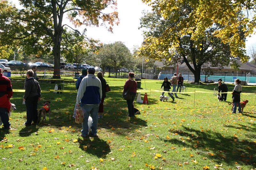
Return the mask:
<path id="1" fill-rule="evenodd" d="M 228 65 L 231 58 L 234 61 L 240 59 L 240 56 L 231 55 L 231 47 L 228 43 L 223 43 L 220 37 L 214 35 L 216 31 L 222 29 L 220 24 L 205 29 L 200 33 L 200 37 L 194 39 L 196 27 L 192 28 L 188 23 L 186 24 L 193 8 L 185 2 L 178 7 L 179 10 L 173 10 L 169 16 L 161 17 L 163 14 L 155 8 L 154 12 L 145 13 L 141 18 L 141 28 L 147 30 L 144 31 L 146 40 L 138 52 L 139 56 L 146 55 L 163 61 L 165 65 L 185 62 L 193 72 L 197 83 L 200 80 L 202 66 L 221 68 L 223 65 Z M 187 26 L 186 30 L 183 29 L 184 24 Z M 244 41 L 242 27 L 239 33 L 239 39 Z M 229 38 L 231 37 L 232 34 Z M 234 62 L 233 66 L 237 67 L 236 64 Z"/>

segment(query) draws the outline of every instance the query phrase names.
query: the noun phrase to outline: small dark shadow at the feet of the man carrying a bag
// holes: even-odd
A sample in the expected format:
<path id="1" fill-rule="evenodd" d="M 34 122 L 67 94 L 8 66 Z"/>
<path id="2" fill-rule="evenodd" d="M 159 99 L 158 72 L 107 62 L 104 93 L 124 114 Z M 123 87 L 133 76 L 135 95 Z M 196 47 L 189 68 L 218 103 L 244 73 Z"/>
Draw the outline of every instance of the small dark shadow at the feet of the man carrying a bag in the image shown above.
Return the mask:
<path id="1" fill-rule="evenodd" d="M 82 140 L 79 145 L 81 150 L 95 155 L 98 158 L 105 158 L 106 155 L 111 151 L 108 142 L 100 139 L 99 137 L 87 137 L 85 140 L 78 138 L 78 141 L 79 140 Z"/>

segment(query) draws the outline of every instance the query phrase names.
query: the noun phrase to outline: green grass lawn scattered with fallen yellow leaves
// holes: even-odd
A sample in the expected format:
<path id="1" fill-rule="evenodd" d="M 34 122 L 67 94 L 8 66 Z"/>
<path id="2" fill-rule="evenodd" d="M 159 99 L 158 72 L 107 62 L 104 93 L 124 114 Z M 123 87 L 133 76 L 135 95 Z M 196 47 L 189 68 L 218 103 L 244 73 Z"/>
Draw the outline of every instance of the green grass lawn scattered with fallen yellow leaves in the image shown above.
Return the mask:
<path id="1" fill-rule="evenodd" d="M 123 89 L 125 79 L 106 80 L 111 90 Z M 39 83 L 42 90 L 55 86 Z M 12 79 L 12 85 L 13 89 L 24 87 L 19 79 Z M 141 88 L 147 90 L 159 90 L 161 85 L 162 81 L 141 82 Z M 213 92 L 217 87 L 184 85 L 187 92 Z M 228 85 L 229 92 L 233 88 Z M 64 89 L 75 90 L 74 81 L 65 80 Z M 244 93 L 255 90 L 243 87 Z M 141 114 L 129 119 L 121 93 L 108 92 L 103 118 L 98 121 L 99 137 L 86 140 L 80 136 L 81 124 L 72 118 L 76 93 L 42 93 L 39 102 L 51 101 L 52 121 L 46 115 L 44 125 L 29 127 L 22 125 L 26 121 L 23 94 L 14 92 L 11 99 L 17 108 L 10 117 L 13 130 L 0 129 L 0 169 L 256 168 L 255 94 L 241 94 L 249 103 L 244 113 L 232 114 L 231 106 L 218 102 L 212 93 L 178 94 L 174 102 L 162 102 L 160 92 L 148 92 L 149 104 L 135 103 Z"/>

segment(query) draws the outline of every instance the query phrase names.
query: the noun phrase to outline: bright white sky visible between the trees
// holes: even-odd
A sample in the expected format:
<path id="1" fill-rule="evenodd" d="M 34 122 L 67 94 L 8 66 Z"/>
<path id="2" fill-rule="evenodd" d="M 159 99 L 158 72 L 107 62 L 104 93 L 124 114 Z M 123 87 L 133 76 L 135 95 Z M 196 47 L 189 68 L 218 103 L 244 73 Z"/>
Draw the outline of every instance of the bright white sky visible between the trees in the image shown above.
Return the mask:
<path id="1" fill-rule="evenodd" d="M 12 0 L 19 6 L 18 0 Z M 113 33 L 108 32 L 107 28 L 103 26 L 99 27 L 86 27 L 87 37 L 93 39 L 99 39 L 102 43 L 113 43 L 116 41 L 122 41 L 126 47 L 132 52 L 134 46 L 140 46 L 143 42 L 142 30 L 138 29 L 140 26 L 140 18 L 142 17 L 143 10 L 150 10 L 148 5 L 143 4 L 140 0 L 117 0 L 117 12 L 120 24 L 113 27 Z M 68 23 L 68 19 L 63 20 L 63 24 Z M 69 24 L 70 26 L 72 24 Z M 85 26 L 81 26 L 79 31 L 82 31 Z M 256 43 L 256 35 L 247 37 L 246 49 L 248 49 L 253 43 Z"/>

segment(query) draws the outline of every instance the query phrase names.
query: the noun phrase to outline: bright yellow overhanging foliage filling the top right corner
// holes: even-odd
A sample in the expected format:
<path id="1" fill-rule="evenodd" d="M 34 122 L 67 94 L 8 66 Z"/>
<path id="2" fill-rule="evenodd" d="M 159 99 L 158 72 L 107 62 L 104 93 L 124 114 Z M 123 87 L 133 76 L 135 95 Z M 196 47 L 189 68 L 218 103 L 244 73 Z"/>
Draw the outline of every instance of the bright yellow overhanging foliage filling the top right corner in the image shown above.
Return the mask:
<path id="1" fill-rule="evenodd" d="M 191 34 L 191 40 L 196 41 L 204 35 L 208 28 L 220 25 L 220 28 L 215 30 L 212 35 L 219 37 L 221 43 L 229 45 L 231 56 L 238 56 L 242 62 L 248 61 L 249 56 L 245 55 L 245 39 L 241 38 L 241 29 L 245 37 L 254 32 L 256 26 L 255 0 L 142 0 L 142 2 L 152 6 L 153 10 L 161 14 L 164 19 L 172 16 L 172 22 L 179 29 L 173 29 L 171 26 L 167 27 L 165 36 Z M 183 5 L 191 7 L 189 13 L 182 11 Z M 241 16 L 240 11 L 244 11 L 244 15 Z M 187 16 L 183 19 L 180 15 L 182 12 L 187 13 Z M 174 43 L 174 47 L 178 46 L 177 36 L 166 38 Z"/>

